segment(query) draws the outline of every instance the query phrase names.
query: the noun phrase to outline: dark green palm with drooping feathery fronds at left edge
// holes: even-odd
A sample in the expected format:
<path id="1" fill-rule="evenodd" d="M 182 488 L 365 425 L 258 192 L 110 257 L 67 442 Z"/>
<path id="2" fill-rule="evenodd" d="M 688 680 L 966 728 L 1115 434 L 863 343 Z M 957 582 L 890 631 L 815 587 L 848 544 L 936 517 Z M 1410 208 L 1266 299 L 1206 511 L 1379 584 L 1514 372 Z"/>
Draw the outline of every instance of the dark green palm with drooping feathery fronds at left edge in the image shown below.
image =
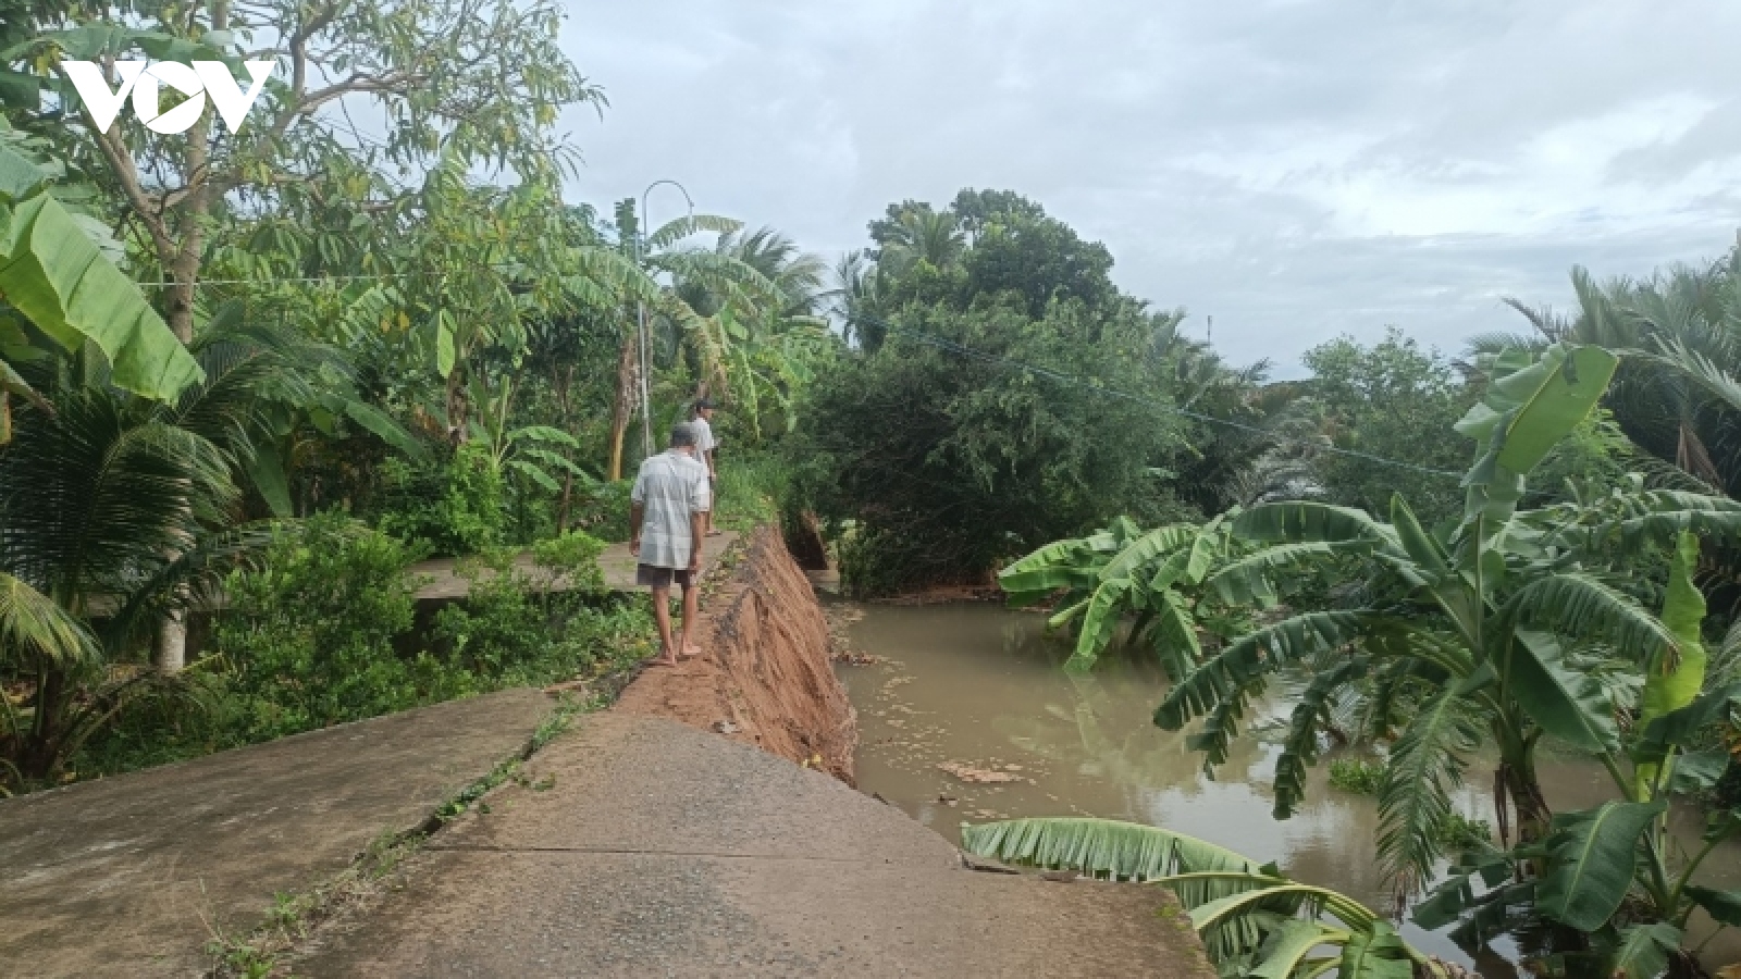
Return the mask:
<path id="1" fill-rule="evenodd" d="M 89 350 L 28 369 L 54 409 L 24 408 L 0 448 L 0 664 L 30 685 L 0 740 L 26 779 L 56 772 L 129 697 L 181 690 L 172 671 L 134 669 L 136 652 L 266 540 L 240 523 L 239 477 L 256 470 L 272 406 L 313 397 L 303 364 L 244 329 L 207 329 L 188 350 L 204 380 L 172 402 L 115 387 Z"/>

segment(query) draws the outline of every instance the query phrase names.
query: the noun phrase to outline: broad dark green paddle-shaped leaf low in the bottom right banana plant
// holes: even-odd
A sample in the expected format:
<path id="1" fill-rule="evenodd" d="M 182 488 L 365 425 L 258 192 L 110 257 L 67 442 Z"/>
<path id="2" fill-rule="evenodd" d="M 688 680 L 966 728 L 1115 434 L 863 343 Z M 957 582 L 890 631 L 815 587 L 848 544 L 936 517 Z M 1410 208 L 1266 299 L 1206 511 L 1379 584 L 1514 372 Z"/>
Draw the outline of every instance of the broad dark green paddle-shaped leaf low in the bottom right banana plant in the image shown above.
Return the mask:
<path id="1" fill-rule="evenodd" d="M 1536 892 L 1543 915 L 1581 932 L 1595 932 L 1614 916 L 1637 861 L 1638 836 L 1668 803 L 1607 801 L 1596 808 L 1553 817 L 1548 873 Z"/>

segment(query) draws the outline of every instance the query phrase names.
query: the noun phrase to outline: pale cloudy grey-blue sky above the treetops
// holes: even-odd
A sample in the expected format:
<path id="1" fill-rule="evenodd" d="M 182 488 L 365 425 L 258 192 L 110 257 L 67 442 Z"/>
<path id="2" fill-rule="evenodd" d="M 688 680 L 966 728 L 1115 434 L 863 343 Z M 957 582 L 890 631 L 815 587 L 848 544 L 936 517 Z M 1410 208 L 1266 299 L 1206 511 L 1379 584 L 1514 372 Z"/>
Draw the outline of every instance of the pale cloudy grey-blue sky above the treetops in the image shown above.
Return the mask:
<path id="1" fill-rule="evenodd" d="M 891 200 L 1017 190 L 1283 376 L 1388 324 L 1455 352 L 1574 263 L 1741 226 L 1741 3 L 568 2 L 611 99 L 564 120 L 575 197 L 672 178 L 832 260 Z"/>

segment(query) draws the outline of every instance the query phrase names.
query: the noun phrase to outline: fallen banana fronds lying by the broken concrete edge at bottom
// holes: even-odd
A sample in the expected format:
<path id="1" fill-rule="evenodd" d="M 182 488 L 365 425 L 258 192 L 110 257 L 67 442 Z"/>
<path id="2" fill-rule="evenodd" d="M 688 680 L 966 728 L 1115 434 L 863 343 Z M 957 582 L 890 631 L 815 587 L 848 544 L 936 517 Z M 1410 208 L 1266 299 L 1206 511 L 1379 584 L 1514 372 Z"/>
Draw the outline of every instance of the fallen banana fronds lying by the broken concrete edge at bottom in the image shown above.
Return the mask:
<path id="1" fill-rule="evenodd" d="M 1112 819 L 1015 819 L 963 824 L 961 847 L 1008 864 L 1165 887 L 1222 976 L 1449 976 L 1353 897 L 1172 829 Z"/>

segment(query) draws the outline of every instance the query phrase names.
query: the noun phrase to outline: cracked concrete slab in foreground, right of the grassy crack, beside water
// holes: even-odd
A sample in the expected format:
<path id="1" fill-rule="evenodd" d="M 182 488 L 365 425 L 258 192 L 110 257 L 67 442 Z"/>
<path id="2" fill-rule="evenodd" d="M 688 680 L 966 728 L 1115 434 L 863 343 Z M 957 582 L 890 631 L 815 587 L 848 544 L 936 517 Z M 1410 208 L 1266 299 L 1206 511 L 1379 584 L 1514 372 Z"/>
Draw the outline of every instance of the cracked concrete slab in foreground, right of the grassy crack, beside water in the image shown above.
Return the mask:
<path id="1" fill-rule="evenodd" d="M 965 869 L 893 807 L 674 721 L 583 718 L 526 775 L 294 974 L 1213 976 L 1165 892 Z"/>

